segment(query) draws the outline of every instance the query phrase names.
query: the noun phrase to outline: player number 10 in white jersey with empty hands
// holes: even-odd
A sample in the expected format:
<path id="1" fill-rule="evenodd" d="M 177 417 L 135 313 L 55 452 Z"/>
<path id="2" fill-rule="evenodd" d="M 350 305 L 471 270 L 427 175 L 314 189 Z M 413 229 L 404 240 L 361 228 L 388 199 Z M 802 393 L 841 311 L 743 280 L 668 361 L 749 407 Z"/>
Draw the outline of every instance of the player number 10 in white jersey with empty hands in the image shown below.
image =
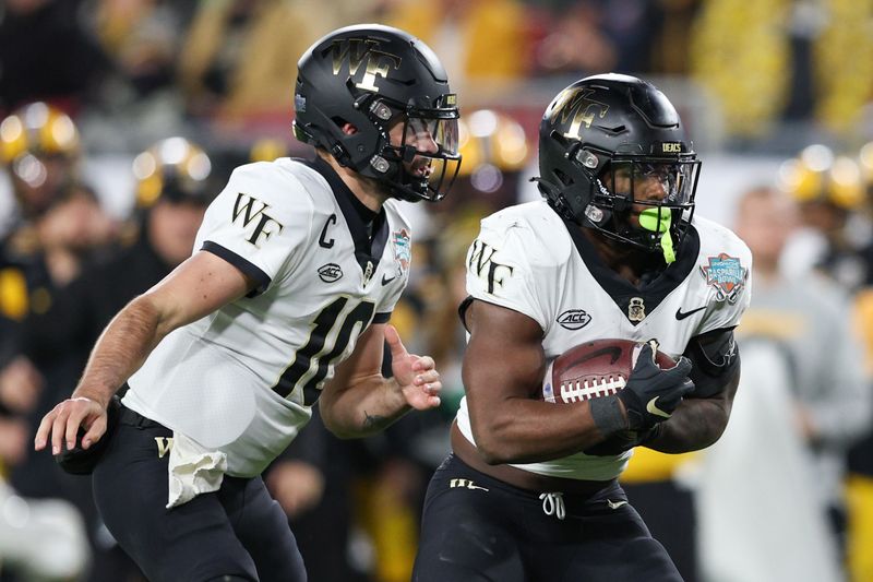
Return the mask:
<path id="1" fill-rule="evenodd" d="M 36 448 L 65 444 L 62 466 L 92 472 L 104 522 L 148 580 L 304 581 L 260 474 L 315 400 L 344 438 L 440 404 L 433 359 L 387 321 L 411 260 L 395 199 L 445 195 L 457 118 L 439 59 L 409 34 L 359 25 L 316 41 L 295 87 L 314 162 L 237 168 L 194 254 L 118 313 L 43 419 Z"/>

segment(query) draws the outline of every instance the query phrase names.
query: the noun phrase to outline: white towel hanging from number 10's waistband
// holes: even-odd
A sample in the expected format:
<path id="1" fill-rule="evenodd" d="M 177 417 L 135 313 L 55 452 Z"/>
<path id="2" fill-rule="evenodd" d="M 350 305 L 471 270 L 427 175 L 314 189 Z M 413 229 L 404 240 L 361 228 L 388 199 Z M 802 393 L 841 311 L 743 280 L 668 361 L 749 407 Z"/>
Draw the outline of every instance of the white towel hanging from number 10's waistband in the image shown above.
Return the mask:
<path id="1" fill-rule="evenodd" d="M 227 455 L 210 451 L 184 435 L 172 433 L 167 509 L 191 501 L 200 494 L 217 491 L 227 471 Z"/>

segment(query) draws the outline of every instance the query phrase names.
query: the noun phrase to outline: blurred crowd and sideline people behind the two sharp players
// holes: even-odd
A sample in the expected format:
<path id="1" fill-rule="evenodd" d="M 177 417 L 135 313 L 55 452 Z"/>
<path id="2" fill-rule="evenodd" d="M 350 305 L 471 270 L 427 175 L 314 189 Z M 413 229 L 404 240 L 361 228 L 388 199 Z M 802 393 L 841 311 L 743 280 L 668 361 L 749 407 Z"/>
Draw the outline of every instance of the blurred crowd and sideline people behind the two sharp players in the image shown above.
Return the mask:
<path id="1" fill-rule="evenodd" d="M 678 106 L 697 212 L 755 256 L 743 379 L 710 450 L 624 476 L 690 582 L 873 581 L 873 0 L 5 0 L 0 4 L 0 581 L 143 580 L 89 480 L 34 454 L 103 326 L 191 251 L 232 167 L 309 152 L 296 63 L 345 24 L 402 27 L 459 94 L 461 177 L 408 205 L 393 316 L 440 411 L 334 439 L 314 418 L 265 479 L 315 582 L 409 578 L 423 488 L 463 395 L 464 254 L 538 197 L 537 126 L 572 81 L 626 72 Z"/>

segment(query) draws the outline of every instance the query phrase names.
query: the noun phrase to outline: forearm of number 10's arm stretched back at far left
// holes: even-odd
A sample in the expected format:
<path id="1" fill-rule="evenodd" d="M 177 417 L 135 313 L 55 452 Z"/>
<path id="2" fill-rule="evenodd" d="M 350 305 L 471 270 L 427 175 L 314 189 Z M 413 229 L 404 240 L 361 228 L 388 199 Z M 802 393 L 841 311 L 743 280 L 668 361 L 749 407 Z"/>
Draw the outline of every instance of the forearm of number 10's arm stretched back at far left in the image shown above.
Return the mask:
<path id="1" fill-rule="evenodd" d="M 97 340 L 73 397 L 87 397 L 106 406 L 168 333 L 160 322 L 158 310 L 147 297 L 128 304 Z"/>

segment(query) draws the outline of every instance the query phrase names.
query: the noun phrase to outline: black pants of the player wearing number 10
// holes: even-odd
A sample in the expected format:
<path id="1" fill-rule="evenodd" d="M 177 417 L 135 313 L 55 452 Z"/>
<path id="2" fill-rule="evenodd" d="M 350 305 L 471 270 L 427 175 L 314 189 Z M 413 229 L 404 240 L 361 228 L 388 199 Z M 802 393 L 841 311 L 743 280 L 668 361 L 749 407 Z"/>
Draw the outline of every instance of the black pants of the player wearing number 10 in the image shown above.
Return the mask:
<path id="1" fill-rule="evenodd" d="M 218 491 L 166 509 L 170 437 L 171 430 L 122 408 L 92 475 L 100 516 L 148 580 L 203 582 L 230 575 L 304 582 L 288 520 L 261 477 L 225 476 Z"/>

